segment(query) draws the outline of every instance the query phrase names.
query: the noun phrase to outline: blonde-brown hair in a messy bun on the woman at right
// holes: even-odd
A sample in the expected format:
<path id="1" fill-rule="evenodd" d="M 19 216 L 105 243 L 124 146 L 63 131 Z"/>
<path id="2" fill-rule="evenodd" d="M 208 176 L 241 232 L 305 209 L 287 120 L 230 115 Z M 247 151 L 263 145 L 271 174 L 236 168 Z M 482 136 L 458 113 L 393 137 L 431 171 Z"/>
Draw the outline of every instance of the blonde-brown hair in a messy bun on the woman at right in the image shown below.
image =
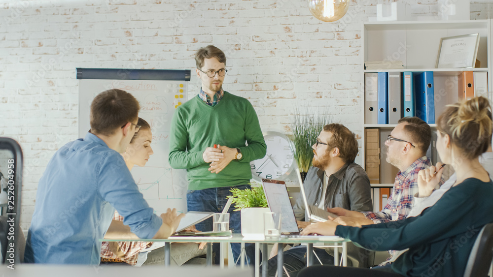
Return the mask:
<path id="1" fill-rule="evenodd" d="M 438 130 L 472 159 L 488 149 L 492 136 L 490 103 L 483 96 L 448 105 L 438 118 Z"/>

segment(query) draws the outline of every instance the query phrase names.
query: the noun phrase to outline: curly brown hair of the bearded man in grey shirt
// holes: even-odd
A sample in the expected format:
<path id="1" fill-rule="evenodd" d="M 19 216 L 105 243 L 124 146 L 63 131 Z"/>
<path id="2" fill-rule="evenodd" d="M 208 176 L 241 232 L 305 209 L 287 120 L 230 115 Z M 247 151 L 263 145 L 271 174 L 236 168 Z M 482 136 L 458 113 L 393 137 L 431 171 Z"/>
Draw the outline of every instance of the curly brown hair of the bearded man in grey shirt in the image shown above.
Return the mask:
<path id="1" fill-rule="evenodd" d="M 337 147 L 339 149 L 339 157 L 344 162 L 354 162 L 358 154 L 358 142 L 354 133 L 339 123 L 327 124 L 323 126 L 323 130 L 332 133 L 332 138 L 327 142 L 327 151 Z"/>

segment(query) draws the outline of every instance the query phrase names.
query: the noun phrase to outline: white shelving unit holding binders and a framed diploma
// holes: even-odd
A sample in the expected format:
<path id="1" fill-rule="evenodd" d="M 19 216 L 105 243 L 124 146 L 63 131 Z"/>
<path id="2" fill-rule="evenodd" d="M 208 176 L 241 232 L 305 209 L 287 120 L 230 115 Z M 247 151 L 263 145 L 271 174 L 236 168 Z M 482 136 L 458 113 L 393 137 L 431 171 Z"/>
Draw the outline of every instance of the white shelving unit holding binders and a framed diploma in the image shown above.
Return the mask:
<path id="1" fill-rule="evenodd" d="M 480 34 L 477 60 L 479 68 L 435 68 L 440 38 L 470 33 Z M 447 104 L 458 101 L 458 74 L 462 71 L 488 72 L 488 91 L 492 91 L 492 20 L 464 21 L 401 21 L 366 22 L 362 24 L 363 55 L 361 80 L 365 86 L 365 73 L 375 72 L 433 72 L 435 93 L 435 119 Z M 402 61 L 402 69 L 365 70 L 365 61 Z M 491 100 L 491 95 L 487 96 Z M 365 95 L 366 97 L 366 95 Z M 365 124 L 365 106 L 362 101 L 362 125 L 378 128 L 380 133 L 380 184 L 372 187 L 388 187 L 394 183 L 398 169 L 386 162 L 385 141 L 396 124 Z M 436 124 L 430 124 L 436 129 Z M 362 165 L 365 166 L 365 132 L 362 135 Z M 449 173 L 451 174 L 451 173 Z"/>

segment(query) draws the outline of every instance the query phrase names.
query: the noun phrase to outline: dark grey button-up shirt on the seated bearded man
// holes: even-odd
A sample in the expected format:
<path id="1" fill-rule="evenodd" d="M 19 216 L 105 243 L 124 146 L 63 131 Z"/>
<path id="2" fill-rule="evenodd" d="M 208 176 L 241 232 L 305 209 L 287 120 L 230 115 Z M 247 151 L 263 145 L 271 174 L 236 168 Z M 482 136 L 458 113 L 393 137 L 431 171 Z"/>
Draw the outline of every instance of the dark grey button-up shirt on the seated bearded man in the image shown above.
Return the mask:
<path id="1" fill-rule="evenodd" d="M 351 211 L 373 211 L 370 179 L 366 171 L 356 163 L 346 163 L 330 175 L 325 192 L 325 203 L 319 203 L 323 188 L 324 171 L 312 166 L 303 182 L 308 205 L 323 205 L 326 208 L 341 207 Z M 305 203 L 300 196 L 293 206 L 297 220 L 307 221 Z"/>

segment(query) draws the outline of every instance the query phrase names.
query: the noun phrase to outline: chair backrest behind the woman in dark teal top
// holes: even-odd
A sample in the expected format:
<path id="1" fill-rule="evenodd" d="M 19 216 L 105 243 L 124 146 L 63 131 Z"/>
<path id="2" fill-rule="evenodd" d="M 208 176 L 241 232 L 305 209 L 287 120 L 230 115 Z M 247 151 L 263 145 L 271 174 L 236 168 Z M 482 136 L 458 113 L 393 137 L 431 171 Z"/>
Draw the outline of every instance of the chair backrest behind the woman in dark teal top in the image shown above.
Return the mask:
<path id="1" fill-rule="evenodd" d="M 464 277 L 487 276 L 493 258 L 493 223 L 488 223 L 478 234 L 467 260 Z"/>

